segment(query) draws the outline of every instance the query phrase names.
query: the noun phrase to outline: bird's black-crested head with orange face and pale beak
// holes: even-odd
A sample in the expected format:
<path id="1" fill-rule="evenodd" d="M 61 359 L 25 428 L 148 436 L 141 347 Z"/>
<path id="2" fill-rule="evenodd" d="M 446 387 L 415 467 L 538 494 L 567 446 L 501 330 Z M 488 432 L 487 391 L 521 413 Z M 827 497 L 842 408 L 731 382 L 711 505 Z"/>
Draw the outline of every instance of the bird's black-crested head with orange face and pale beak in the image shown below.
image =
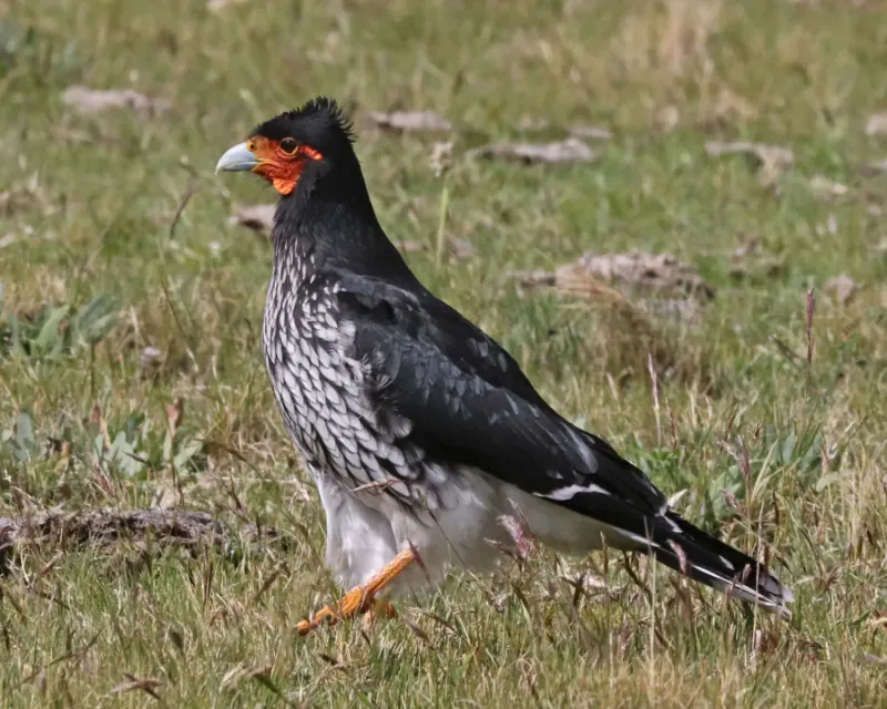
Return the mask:
<path id="1" fill-rule="evenodd" d="M 357 165 L 354 129 L 335 101 L 318 97 L 256 126 L 218 160 L 216 172 L 251 171 L 284 197 L 307 194 L 334 168 L 341 174 Z M 359 167 L 358 167 L 359 171 Z"/>

